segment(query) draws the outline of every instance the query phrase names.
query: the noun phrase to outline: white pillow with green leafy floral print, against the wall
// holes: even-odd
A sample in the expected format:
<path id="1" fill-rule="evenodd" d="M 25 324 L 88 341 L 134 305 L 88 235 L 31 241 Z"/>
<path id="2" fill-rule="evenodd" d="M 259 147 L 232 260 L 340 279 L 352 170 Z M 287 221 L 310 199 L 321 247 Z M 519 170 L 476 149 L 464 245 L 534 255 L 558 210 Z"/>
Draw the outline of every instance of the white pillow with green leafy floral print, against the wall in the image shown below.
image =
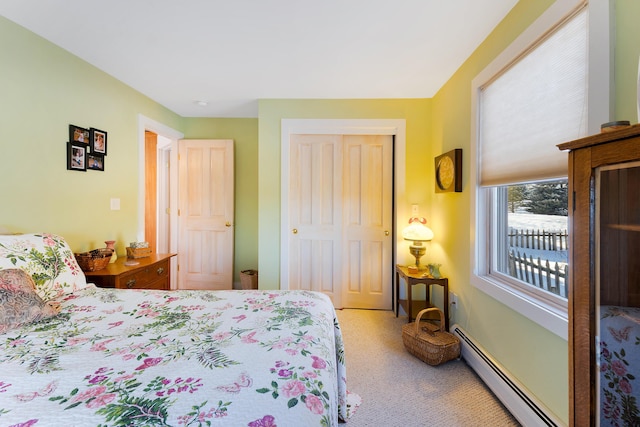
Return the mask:
<path id="1" fill-rule="evenodd" d="M 45 301 L 87 287 L 71 248 L 54 234 L 0 235 L 0 269 L 21 268 L 31 275 Z"/>

